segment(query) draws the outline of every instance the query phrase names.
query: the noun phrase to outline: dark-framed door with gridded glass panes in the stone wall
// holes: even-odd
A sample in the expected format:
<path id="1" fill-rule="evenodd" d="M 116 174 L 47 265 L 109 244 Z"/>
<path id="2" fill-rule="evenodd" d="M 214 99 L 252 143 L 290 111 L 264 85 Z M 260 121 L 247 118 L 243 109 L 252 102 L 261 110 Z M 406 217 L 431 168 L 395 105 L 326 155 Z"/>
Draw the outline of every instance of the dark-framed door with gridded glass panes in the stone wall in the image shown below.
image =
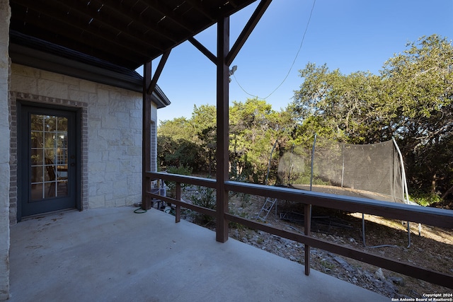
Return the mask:
<path id="1" fill-rule="evenodd" d="M 23 105 L 18 117 L 18 220 L 76 208 L 76 112 Z"/>

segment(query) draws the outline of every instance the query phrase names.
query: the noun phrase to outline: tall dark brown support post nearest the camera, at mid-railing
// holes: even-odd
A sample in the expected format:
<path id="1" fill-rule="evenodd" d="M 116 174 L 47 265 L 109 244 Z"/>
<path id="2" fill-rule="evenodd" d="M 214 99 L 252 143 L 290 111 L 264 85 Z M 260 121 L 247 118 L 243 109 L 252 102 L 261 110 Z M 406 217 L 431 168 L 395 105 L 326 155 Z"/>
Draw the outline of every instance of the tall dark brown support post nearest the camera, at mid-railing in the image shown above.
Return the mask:
<path id="1" fill-rule="evenodd" d="M 229 52 L 229 17 L 217 21 L 217 219 L 216 240 L 228 240 L 228 221 L 224 213 L 228 212 L 228 191 L 225 181 L 228 180 L 228 110 L 229 110 L 229 69 L 226 55 Z"/>

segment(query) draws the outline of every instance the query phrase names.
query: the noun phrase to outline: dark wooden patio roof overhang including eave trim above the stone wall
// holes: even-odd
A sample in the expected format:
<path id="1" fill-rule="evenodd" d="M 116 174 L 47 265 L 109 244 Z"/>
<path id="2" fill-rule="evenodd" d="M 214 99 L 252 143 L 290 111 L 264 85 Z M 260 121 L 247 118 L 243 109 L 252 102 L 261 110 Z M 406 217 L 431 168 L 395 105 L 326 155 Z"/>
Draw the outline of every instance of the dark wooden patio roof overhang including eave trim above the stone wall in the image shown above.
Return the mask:
<path id="1" fill-rule="evenodd" d="M 255 0 L 11 0 L 13 62 L 132 91 L 134 70 Z M 154 85 L 158 108 L 170 104 Z"/>

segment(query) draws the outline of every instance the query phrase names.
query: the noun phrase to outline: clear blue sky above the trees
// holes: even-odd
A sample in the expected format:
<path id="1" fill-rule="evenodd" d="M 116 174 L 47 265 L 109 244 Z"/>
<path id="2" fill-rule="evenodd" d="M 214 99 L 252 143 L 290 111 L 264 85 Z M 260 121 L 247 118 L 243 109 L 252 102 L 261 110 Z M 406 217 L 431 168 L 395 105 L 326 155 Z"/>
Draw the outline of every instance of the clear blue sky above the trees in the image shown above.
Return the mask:
<path id="1" fill-rule="evenodd" d="M 231 46 L 258 2 L 231 16 Z M 316 0 L 306 29 L 313 5 L 313 0 L 270 4 L 231 64 L 238 67 L 231 77 L 230 105 L 256 95 L 274 110 L 285 108 L 303 81 L 299 70 L 308 62 L 326 63 L 343 74 L 378 74 L 386 59 L 406 49 L 406 42 L 433 33 L 453 39 L 453 0 Z M 214 54 L 216 30 L 214 25 L 196 36 Z M 159 59 L 153 67 L 157 64 Z M 194 104 L 215 105 L 215 66 L 189 42 L 172 50 L 157 84 L 171 100 L 171 105 L 158 110 L 160 121 L 190 118 Z"/>

